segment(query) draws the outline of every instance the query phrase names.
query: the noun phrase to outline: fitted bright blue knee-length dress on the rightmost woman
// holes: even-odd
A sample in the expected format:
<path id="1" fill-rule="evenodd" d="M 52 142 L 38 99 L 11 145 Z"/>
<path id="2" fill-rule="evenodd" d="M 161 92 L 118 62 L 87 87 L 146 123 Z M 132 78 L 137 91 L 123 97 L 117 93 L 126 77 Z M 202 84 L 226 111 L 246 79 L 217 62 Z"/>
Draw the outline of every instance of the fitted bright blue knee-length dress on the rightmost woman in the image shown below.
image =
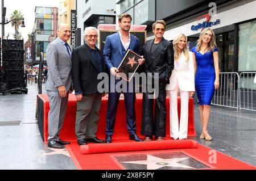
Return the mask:
<path id="1" fill-rule="evenodd" d="M 213 64 L 213 52 L 217 52 L 217 47 L 212 51 L 201 54 L 196 51 L 196 47 L 191 52 L 196 56 L 196 94 L 200 105 L 210 105 L 214 94 L 215 69 Z"/>

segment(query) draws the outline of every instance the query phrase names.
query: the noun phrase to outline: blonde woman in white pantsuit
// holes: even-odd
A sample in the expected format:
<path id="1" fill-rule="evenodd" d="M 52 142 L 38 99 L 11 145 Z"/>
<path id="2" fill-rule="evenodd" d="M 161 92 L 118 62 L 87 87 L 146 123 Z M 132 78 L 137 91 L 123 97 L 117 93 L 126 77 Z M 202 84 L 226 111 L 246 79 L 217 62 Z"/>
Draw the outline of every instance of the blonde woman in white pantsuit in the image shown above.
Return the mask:
<path id="1" fill-rule="evenodd" d="M 195 75 L 192 52 L 187 49 L 187 36 L 180 33 L 173 41 L 174 70 L 170 84 L 166 86 L 170 98 L 170 137 L 187 139 L 188 135 L 188 101 L 195 94 Z M 180 90 L 181 110 L 180 126 L 177 113 L 177 92 Z"/>

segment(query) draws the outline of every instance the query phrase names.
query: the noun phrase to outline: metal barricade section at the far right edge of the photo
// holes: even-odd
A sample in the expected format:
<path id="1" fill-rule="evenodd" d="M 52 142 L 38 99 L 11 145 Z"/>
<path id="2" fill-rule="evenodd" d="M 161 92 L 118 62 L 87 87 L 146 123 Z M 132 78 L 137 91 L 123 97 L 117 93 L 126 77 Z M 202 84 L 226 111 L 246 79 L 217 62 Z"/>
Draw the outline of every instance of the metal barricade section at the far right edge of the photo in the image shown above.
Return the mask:
<path id="1" fill-rule="evenodd" d="M 256 111 L 256 72 L 240 74 L 240 108 L 241 110 Z"/>

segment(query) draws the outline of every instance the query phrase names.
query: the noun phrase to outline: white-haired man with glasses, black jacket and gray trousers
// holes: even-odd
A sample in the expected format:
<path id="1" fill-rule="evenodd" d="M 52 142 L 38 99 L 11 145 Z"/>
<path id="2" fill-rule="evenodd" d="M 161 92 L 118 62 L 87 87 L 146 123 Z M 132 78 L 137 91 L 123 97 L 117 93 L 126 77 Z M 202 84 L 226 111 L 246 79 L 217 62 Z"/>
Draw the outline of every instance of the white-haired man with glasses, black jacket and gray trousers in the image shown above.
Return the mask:
<path id="1" fill-rule="evenodd" d="M 95 46 L 97 37 L 96 28 L 86 27 L 85 44 L 72 53 L 72 79 L 77 99 L 76 138 L 79 145 L 103 142 L 96 137 L 102 98 L 102 93 L 97 90 L 100 82 L 97 77 L 105 70 L 101 51 Z"/>

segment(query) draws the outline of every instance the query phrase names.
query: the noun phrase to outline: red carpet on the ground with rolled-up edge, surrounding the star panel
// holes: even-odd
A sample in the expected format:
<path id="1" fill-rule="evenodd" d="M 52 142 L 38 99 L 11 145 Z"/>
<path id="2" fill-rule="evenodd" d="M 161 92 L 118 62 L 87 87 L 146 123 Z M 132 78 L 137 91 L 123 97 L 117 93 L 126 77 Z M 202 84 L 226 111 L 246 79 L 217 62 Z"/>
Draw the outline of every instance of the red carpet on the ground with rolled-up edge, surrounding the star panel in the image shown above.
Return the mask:
<path id="1" fill-rule="evenodd" d="M 189 141 L 191 141 L 190 145 L 188 144 Z M 174 144 L 174 142 L 176 143 Z M 159 145 L 161 145 L 161 143 L 163 143 L 162 144 L 163 146 L 162 148 L 159 148 Z M 99 148 L 100 146 L 102 146 L 101 149 L 105 149 L 105 151 L 111 151 L 110 149 L 112 149 L 112 151 L 113 150 L 117 151 L 117 148 L 118 148 L 118 146 L 116 146 L 117 144 L 123 145 L 122 150 L 126 148 L 129 151 L 123 151 L 123 152 L 118 151 L 118 152 L 111 152 L 111 153 L 95 153 L 97 152 L 96 148 Z M 127 147 L 129 146 L 129 144 L 131 144 L 130 148 Z M 136 146 L 138 147 L 138 145 L 136 144 L 138 145 L 144 144 L 141 146 L 141 148 L 137 148 L 137 150 L 143 149 L 143 147 L 149 148 L 150 146 L 151 146 L 151 149 L 155 149 L 155 150 L 130 151 L 130 150 L 134 150 Z M 111 145 L 114 145 L 114 146 L 111 146 Z M 187 148 L 177 149 L 186 145 L 187 145 Z M 159 154 L 165 154 L 165 155 L 166 154 L 183 154 L 185 155 L 185 157 L 189 157 L 189 159 L 191 159 L 192 161 L 197 162 L 197 165 L 200 163 L 203 167 L 201 169 L 203 170 L 205 169 L 206 170 L 212 170 L 212 169 L 214 170 L 216 169 L 217 170 L 218 169 L 220 170 L 227 170 L 227 169 L 228 170 L 233 170 L 233 169 L 255 170 L 256 169 L 256 167 L 253 165 L 249 165 L 236 158 L 230 157 L 229 155 L 220 153 L 219 151 L 216 151 L 216 150 L 212 150 L 206 146 L 195 144 L 195 141 L 192 141 L 192 140 L 149 141 L 149 142 L 139 142 L 139 143 L 130 142 L 126 140 L 126 142 L 123 142 L 123 143 L 116 142 L 115 144 L 89 144 L 88 146 L 89 146 L 88 150 L 92 152 L 95 151 L 94 152 L 95 154 L 82 154 L 80 151 L 83 149 L 80 150 L 80 146 L 77 145 L 77 142 L 72 142 L 70 145 L 66 145 L 66 148 L 68 149 L 69 154 L 71 155 L 77 169 L 122 170 L 122 169 L 127 169 L 122 165 L 124 163 L 121 164 L 121 162 L 119 162 L 123 158 L 127 158 L 130 156 L 137 156 L 137 155 L 142 155 L 145 157 L 145 155 L 159 155 Z M 104 146 L 109 147 L 108 148 L 109 150 L 104 148 Z M 189 148 L 189 146 L 191 146 L 191 148 Z M 113 149 L 113 147 L 115 148 Z M 173 149 L 170 149 L 170 148 L 173 148 Z M 100 150 L 100 152 L 101 151 L 103 150 Z M 199 169 L 196 169 L 196 170 L 199 170 Z"/>

